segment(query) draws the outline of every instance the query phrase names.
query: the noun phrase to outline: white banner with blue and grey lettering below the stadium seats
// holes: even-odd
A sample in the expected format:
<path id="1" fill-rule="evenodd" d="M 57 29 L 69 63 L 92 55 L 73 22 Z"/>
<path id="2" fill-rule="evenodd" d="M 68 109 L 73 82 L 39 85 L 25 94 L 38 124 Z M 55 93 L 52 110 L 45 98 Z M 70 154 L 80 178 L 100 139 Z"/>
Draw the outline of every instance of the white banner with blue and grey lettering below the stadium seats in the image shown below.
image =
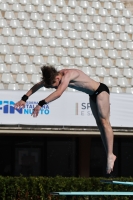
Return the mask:
<path id="1" fill-rule="evenodd" d="M 59 99 L 45 105 L 37 118 L 33 118 L 33 108 L 50 93 L 38 91 L 29 98 L 24 109 L 15 110 L 14 103 L 21 99 L 24 91 L 1 91 L 0 124 L 96 126 L 89 96 L 82 92 L 64 92 Z M 133 95 L 111 93 L 110 103 L 111 125 L 133 127 Z"/>

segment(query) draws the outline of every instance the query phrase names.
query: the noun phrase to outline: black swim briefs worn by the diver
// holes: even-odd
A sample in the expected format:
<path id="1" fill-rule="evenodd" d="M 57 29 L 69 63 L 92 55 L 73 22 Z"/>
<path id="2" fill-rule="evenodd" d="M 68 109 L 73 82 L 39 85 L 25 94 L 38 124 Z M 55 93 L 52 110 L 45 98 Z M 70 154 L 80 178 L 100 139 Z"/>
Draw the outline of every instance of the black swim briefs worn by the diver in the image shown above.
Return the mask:
<path id="1" fill-rule="evenodd" d="M 94 102 L 96 102 L 96 97 L 97 95 L 99 95 L 101 92 L 107 92 L 108 94 L 110 94 L 110 91 L 109 91 L 109 88 L 103 84 L 103 83 L 100 83 L 99 87 L 97 88 L 97 90 L 92 94 L 92 95 L 89 95 L 90 96 L 90 99 L 92 99 Z"/>

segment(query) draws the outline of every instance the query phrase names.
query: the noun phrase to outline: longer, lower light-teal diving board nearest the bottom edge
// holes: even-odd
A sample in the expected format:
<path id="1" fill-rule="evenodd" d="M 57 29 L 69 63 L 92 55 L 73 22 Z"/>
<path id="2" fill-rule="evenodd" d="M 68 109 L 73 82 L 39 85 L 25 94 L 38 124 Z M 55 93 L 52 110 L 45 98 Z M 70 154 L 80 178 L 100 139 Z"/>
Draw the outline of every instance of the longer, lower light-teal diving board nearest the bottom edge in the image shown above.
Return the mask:
<path id="1" fill-rule="evenodd" d="M 60 196 L 133 196 L 133 192 L 52 192 L 51 195 Z"/>

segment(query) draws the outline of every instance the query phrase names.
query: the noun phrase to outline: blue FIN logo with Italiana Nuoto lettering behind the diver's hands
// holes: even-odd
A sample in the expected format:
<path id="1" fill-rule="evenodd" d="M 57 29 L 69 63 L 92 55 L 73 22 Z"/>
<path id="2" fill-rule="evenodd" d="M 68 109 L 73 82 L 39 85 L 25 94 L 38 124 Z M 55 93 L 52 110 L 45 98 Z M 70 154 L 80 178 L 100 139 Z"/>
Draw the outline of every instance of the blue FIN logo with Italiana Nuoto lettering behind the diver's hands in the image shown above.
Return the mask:
<path id="1" fill-rule="evenodd" d="M 4 114 L 15 114 L 16 112 L 19 114 L 32 114 L 33 109 L 36 107 L 38 102 L 34 101 L 27 101 L 25 108 L 15 109 L 14 108 L 14 102 L 13 101 L 0 101 L 0 110 L 3 110 Z M 50 113 L 49 105 L 44 105 L 39 114 L 45 114 L 48 115 Z"/>

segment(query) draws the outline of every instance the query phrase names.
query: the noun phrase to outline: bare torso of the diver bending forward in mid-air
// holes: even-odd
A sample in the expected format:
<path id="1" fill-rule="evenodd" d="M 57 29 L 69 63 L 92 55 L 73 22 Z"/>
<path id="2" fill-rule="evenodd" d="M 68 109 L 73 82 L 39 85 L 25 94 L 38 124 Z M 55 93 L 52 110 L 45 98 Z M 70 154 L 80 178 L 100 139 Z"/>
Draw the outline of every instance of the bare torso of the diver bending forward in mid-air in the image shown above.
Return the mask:
<path id="1" fill-rule="evenodd" d="M 78 69 L 63 69 L 60 71 L 60 73 L 62 74 L 62 76 L 65 76 L 68 73 L 70 74 L 71 80 L 68 87 L 74 88 L 90 95 L 93 94 L 100 85 L 99 82 L 94 81 L 84 72 Z"/>

